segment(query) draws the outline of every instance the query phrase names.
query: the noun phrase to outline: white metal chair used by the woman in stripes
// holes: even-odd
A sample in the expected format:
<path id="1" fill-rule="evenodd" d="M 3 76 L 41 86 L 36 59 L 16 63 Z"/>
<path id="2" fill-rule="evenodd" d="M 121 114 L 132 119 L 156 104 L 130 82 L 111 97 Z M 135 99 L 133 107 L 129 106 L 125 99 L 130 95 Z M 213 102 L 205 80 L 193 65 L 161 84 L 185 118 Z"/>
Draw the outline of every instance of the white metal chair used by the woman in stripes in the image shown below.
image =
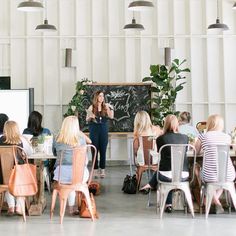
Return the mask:
<path id="1" fill-rule="evenodd" d="M 236 209 L 236 193 L 235 193 L 234 182 L 227 181 L 228 163 L 229 161 L 231 161 L 229 155 L 230 145 L 214 145 L 214 146 L 211 145 L 209 148 L 211 148 L 211 150 L 213 151 L 215 149 L 217 179 L 216 182 L 205 183 L 201 191 L 201 206 L 203 205 L 204 195 L 206 196 L 206 209 L 205 209 L 206 219 L 208 218 L 213 195 L 217 189 L 223 189 L 230 193 L 231 199 Z M 205 160 L 203 159 L 203 164 L 204 161 Z M 227 194 L 226 194 L 226 200 L 228 201 Z"/>

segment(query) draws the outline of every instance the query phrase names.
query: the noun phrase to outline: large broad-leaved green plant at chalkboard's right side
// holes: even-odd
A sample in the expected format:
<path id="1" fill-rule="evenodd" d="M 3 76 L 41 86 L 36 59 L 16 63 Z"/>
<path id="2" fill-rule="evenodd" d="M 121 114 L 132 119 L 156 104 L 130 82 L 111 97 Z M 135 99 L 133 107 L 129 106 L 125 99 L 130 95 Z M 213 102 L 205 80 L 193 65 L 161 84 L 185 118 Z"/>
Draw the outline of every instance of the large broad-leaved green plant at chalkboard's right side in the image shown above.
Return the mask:
<path id="1" fill-rule="evenodd" d="M 186 60 L 175 59 L 171 66 L 151 65 L 150 76 L 143 78 L 143 82 L 152 82 L 151 87 L 151 117 L 154 124 L 163 126 L 163 119 L 168 114 L 178 115 L 175 111 L 175 100 L 177 93 L 182 90 L 186 83 L 185 74 L 190 72 L 189 68 L 182 68 Z"/>

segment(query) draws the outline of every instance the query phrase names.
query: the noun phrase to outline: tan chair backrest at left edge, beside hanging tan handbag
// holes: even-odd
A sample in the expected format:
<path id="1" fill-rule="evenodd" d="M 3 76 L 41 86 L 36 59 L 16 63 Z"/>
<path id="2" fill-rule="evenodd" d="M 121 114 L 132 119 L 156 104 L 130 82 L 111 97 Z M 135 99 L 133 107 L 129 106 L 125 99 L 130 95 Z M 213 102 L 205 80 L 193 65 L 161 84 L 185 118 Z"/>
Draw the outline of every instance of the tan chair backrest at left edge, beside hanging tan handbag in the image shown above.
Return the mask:
<path id="1" fill-rule="evenodd" d="M 0 146 L 0 183 L 8 185 L 11 170 L 14 166 L 16 146 Z"/>

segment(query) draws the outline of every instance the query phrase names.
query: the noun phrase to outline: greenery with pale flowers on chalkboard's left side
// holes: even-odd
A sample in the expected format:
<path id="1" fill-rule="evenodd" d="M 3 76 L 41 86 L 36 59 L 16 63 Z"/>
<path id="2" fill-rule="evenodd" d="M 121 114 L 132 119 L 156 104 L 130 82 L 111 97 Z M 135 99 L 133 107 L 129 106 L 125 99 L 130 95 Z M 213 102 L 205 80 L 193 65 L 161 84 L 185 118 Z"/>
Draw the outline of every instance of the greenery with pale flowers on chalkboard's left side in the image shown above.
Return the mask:
<path id="1" fill-rule="evenodd" d="M 78 116 L 84 110 L 83 99 L 88 87 L 88 84 L 92 83 L 88 78 L 84 78 L 81 81 L 76 83 L 76 93 L 72 97 L 71 101 L 68 104 L 67 112 L 64 114 L 64 117 L 76 115 Z"/>

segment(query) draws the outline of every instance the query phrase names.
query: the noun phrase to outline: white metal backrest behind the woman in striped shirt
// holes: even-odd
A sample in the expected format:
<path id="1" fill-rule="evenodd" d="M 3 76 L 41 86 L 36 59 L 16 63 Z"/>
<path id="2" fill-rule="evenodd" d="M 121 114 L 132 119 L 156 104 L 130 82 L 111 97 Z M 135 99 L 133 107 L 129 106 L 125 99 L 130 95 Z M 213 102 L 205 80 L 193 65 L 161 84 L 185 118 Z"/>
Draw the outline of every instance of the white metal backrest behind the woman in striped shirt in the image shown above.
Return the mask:
<path id="1" fill-rule="evenodd" d="M 227 182 L 227 170 L 228 170 L 228 162 L 230 160 L 230 145 L 228 144 L 220 144 L 220 145 L 208 145 L 206 146 L 206 151 L 211 152 L 211 156 L 215 156 L 216 158 L 216 172 L 217 179 L 216 181 L 219 183 Z M 203 159 L 203 163 L 205 158 Z"/>

